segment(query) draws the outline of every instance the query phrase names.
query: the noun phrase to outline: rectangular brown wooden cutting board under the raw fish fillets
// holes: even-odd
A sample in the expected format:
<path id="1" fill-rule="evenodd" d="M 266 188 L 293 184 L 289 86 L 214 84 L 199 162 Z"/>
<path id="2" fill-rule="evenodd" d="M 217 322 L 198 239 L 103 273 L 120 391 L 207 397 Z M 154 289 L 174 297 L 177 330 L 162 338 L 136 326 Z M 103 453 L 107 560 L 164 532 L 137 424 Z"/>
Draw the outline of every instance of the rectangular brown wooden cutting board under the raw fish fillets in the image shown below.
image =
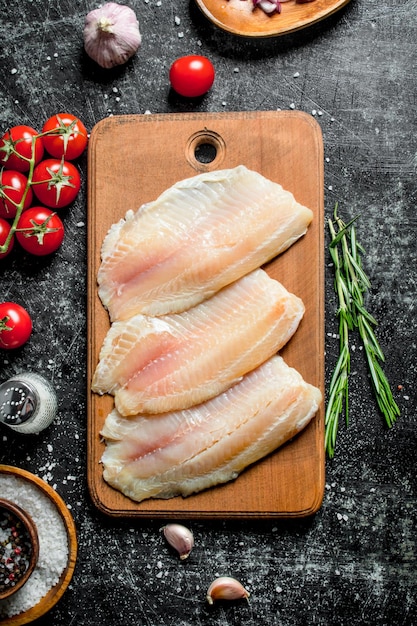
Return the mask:
<path id="1" fill-rule="evenodd" d="M 207 153 L 214 152 L 207 156 Z M 203 158 L 200 155 L 205 155 Z M 204 162 L 203 162 L 204 161 Z M 311 116 L 296 111 L 110 117 L 92 130 L 88 155 L 88 384 L 109 328 L 97 294 L 100 249 L 128 209 L 200 172 L 243 164 L 279 182 L 314 211 L 307 234 L 265 268 L 300 296 L 306 313 L 281 352 L 324 397 L 323 143 Z M 114 516 L 272 518 L 314 513 L 324 493 L 324 410 L 292 442 L 239 478 L 188 498 L 135 503 L 108 486 L 100 429 L 111 396 L 88 394 L 88 484 L 95 505 Z"/>

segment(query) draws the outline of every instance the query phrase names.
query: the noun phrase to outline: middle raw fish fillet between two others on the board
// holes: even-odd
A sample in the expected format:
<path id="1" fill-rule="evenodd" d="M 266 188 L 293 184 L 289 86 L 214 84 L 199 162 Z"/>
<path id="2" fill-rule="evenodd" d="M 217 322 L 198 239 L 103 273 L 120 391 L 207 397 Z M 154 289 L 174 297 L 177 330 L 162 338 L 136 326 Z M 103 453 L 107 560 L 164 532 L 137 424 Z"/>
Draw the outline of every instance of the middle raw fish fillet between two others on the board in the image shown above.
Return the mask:
<path id="1" fill-rule="evenodd" d="M 113 322 L 92 389 L 122 415 L 184 409 L 221 393 L 296 331 L 303 302 L 254 270 L 183 313 Z"/>

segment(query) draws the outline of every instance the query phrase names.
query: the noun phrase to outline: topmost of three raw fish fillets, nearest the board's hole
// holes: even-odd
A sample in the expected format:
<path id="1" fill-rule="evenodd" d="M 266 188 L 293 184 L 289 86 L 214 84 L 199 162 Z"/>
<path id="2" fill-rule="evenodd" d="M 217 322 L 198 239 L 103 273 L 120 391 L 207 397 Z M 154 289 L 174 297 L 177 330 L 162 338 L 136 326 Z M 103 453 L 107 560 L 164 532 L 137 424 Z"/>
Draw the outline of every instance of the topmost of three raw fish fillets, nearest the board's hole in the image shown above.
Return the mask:
<path id="1" fill-rule="evenodd" d="M 112 226 L 99 296 L 112 321 L 185 311 L 286 250 L 312 217 L 242 165 L 199 174 Z"/>

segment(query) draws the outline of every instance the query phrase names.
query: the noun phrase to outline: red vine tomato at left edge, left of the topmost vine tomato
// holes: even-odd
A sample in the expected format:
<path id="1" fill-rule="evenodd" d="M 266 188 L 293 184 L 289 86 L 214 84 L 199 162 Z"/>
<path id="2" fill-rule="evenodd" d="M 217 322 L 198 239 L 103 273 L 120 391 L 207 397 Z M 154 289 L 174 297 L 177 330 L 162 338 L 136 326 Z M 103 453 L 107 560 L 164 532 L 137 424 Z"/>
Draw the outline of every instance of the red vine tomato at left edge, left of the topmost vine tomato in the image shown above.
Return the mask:
<path id="1" fill-rule="evenodd" d="M 33 139 L 38 133 L 31 126 L 13 126 L 0 139 L 0 164 L 9 170 L 27 172 L 30 159 L 38 163 L 43 157 L 41 138 Z M 34 154 L 32 155 L 32 141 Z"/>

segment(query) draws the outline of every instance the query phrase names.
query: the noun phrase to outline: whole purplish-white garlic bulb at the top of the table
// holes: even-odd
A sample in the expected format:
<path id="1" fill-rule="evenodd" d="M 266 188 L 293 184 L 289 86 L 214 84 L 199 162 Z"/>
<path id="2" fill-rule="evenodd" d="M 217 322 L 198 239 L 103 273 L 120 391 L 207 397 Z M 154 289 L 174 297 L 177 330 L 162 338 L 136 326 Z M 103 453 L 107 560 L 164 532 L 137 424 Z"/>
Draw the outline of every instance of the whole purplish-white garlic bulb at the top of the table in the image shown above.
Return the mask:
<path id="1" fill-rule="evenodd" d="M 88 56 L 104 68 L 126 63 L 142 41 L 134 11 L 116 2 L 90 11 L 83 35 Z"/>

